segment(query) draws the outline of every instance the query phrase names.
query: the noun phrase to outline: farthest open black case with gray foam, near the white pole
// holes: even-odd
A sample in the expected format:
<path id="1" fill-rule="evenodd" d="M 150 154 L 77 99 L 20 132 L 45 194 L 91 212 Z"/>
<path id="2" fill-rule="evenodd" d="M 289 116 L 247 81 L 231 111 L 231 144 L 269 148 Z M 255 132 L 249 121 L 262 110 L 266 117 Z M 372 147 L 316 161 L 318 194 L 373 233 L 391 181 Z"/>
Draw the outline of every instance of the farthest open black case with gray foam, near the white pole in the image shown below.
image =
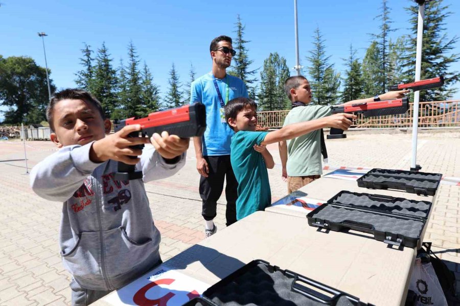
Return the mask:
<path id="1" fill-rule="evenodd" d="M 440 173 L 374 168 L 356 182 L 359 187 L 399 189 L 418 195 L 434 195 L 442 178 Z"/>

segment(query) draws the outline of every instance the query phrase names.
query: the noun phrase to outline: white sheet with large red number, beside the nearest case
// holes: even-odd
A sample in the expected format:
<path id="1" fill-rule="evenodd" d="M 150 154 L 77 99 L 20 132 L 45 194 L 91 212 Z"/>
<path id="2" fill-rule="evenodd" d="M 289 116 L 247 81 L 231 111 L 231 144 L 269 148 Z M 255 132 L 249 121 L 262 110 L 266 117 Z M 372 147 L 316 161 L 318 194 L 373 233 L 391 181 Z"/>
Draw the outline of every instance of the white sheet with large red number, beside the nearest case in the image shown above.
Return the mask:
<path id="1" fill-rule="evenodd" d="M 160 265 L 151 273 L 106 296 L 112 305 L 182 305 L 200 296 L 210 285 Z"/>

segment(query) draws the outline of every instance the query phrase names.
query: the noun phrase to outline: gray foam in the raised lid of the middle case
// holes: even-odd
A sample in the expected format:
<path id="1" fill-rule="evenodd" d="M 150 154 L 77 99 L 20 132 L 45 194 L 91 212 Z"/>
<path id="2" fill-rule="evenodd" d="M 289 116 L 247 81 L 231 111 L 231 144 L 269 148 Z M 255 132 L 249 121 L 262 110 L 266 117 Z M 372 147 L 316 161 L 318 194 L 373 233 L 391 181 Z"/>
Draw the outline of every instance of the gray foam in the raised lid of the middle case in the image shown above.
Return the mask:
<path id="1" fill-rule="evenodd" d="M 371 199 L 367 195 L 356 195 L 352 193 L 342 193 L 334 203 L 341 203 L 345 205 L 354 205 L 361 207 L 368 207 L 373 209 L 381 209 L 395 213 L 407 214 L 411 216 L 427 217 L 430 206 L 422 201 L 410 201 L 404 199 L 403 201 L 385 202 Z"/>

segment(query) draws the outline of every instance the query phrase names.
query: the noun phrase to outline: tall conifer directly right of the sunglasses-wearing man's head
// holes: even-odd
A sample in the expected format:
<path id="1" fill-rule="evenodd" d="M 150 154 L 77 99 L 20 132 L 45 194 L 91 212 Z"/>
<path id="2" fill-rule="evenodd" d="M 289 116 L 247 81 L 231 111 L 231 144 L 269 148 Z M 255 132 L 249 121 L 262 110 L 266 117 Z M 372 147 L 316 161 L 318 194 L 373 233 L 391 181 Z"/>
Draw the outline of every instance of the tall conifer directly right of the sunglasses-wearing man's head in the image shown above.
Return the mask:
<path id="1" fill-rule="evenodd" d="M 254 75 L 257 73 L 257 69 L 250 70 L 249 66 L 252 64 L 252 60 L 249 60 L 247 55 L 247 48 L 246 44 L 250 42 L 249 40 L 244 40 L 244 29 L 246 28 L 245 25 L 241 22 L 240 15 L 237 17 L 237 22 L 235 23 L 235 28 L 237 37 L 233 39 L 233 48 L 236 50 L 237 54 L 233 58 L 233 69 L 230 70 L 228 73 L 231 75 L 235 75 L 235 77 L 240 78 L 243 80 L 244 84 L 246 85 L 246 89 L 249 93 L 249 97 L 251 99 L 256 99 L 256 86 L 252 86 L 251 84 L 257 81 L 257 78 L 254 78 Z"/>

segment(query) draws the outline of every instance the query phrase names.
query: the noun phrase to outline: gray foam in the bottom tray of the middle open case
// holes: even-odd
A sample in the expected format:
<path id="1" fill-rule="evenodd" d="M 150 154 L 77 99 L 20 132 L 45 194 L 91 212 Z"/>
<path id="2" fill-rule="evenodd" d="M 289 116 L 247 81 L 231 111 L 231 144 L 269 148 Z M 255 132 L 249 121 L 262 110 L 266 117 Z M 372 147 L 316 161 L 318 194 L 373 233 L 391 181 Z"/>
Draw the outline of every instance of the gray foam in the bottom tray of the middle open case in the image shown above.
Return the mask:
<path id="1" fill-rule="evenodd" d="M 374 225 L 376 231 L 400 234 L 410 238 L 419 238 L 423 222 L 398 218 L 388 215 L 363 212 L 356 209 L 346 209 L 328 205 L 312 216 L 330 222 L 340 223 L 345 220 Z"/>

